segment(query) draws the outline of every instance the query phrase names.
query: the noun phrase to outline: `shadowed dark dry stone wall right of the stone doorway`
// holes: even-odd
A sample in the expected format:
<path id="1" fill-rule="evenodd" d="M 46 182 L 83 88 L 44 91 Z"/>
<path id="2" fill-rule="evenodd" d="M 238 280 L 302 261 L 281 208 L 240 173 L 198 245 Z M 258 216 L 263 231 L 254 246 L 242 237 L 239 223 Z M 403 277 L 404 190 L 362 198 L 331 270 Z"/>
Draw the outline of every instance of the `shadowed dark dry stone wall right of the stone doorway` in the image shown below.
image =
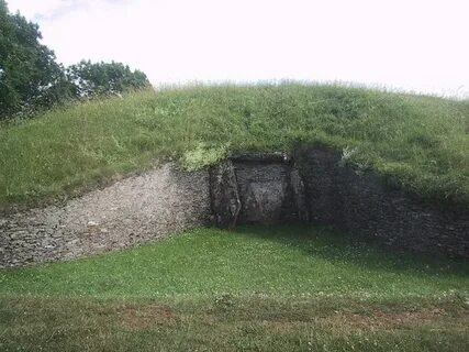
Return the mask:
<path id="1" fill-rule="evenodd" d="M 389 189 L 372 172 L 344 166 L 340 153 L 303 147 L 297 164 L 310 219 L 399 249 L 469 257 L 469 211 Z"/>

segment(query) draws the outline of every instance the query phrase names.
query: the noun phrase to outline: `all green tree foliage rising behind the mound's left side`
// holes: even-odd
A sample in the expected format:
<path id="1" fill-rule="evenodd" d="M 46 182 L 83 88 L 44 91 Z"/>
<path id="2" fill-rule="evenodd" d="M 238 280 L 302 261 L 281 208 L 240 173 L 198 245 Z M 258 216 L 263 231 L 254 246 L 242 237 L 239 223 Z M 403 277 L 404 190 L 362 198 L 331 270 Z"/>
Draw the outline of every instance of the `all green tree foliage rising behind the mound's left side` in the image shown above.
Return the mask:
<path id="1" fill-rule="evenodd" d="M 9 12 L 0 0 L 0 120 L 70 99 L 109 96 L 149 86 L 146 75 L 121 63 L 81 61 L 64 68 L 41 44 L 38 25 Z"/>

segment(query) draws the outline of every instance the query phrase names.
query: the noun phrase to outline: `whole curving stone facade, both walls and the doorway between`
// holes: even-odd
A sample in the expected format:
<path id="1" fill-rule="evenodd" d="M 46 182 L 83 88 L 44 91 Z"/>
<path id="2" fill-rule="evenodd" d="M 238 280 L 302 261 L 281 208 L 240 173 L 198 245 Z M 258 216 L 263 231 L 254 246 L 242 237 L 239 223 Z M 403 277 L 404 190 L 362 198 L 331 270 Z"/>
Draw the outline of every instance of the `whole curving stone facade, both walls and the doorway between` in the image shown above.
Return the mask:
<path id="1" fill-rule="evenodd" d="M 165 164 L 64 206 L 0 213 L 0 267 L 72 258 L 216 223 L 302 221 L 393 248 L 469 257 L 469 211 L 390 190 L 340 153 L 303 146 L 234 155 L 210 170 Z"/>

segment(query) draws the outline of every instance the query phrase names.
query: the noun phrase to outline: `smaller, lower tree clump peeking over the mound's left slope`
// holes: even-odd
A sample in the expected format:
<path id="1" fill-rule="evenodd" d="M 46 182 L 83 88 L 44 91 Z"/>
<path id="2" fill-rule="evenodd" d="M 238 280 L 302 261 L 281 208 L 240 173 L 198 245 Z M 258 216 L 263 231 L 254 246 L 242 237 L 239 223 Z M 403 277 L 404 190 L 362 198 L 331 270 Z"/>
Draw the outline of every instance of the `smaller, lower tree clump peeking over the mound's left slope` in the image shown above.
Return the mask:
<path id="1" fill-rule="evenodd" d="M 121 63 L 81 61 L 67 68 L 68 79 L 76 86 L 78 97 L 110 96 L 150 86 L 141 70 L 132 72 Z"/>

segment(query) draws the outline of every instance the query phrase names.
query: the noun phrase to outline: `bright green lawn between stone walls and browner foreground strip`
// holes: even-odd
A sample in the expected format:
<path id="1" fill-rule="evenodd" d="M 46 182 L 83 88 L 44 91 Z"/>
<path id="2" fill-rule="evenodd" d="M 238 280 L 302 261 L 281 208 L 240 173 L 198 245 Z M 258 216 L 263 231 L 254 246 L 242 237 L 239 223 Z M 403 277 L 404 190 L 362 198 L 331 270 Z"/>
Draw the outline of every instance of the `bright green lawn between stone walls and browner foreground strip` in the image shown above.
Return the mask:
<path id="1" fill-rule="evenodd" d="M 469 295 L 469 265 L 391 254 L 326 228 L 199 229 L 119 253 L 0 271 L 0 295 L 358 298 Z"/>

